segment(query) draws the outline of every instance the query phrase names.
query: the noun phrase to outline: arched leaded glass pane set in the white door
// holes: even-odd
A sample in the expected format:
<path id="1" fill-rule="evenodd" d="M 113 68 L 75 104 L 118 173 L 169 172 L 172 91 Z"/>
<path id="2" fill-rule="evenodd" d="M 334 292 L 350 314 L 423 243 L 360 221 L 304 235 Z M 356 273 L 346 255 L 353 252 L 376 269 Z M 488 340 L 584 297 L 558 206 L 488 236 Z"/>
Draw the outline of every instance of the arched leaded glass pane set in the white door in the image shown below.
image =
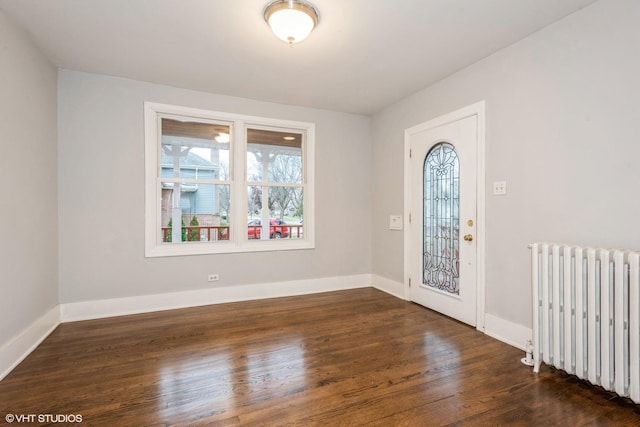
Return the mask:
<path id="1" fill-rule="evenodd" d="M 460 164 L 453 145 L 442 142 L 429 151 L 423 179 L 422 283 L 459 295 Z"/>

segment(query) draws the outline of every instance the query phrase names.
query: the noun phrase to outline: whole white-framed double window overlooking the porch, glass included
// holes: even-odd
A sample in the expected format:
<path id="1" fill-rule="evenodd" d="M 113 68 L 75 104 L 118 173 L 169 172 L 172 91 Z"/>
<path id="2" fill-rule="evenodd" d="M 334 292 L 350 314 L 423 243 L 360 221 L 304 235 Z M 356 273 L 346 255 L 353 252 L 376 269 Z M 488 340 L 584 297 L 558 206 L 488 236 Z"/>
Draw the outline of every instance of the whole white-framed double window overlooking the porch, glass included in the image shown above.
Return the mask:
<path id="1" fill-rule="evenodd" d="M 313 248 L 314 129 L 145 103 L 146 256 Z"/>

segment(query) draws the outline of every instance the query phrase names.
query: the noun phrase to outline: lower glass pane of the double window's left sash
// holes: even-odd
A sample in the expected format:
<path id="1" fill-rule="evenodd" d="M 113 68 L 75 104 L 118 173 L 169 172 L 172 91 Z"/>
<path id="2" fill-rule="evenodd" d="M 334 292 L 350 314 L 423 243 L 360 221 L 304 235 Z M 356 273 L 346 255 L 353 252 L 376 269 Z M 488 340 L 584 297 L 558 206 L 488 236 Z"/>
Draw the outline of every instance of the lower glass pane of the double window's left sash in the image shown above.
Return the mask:
<path id="1" fill-rule="evenodd" d="M 172 182 L 160 185 L 163 243 L 229 240 L 229 185 Z M 173 226 L 174 218 L 176 224 L 180 221 L 180 226 Z"/>

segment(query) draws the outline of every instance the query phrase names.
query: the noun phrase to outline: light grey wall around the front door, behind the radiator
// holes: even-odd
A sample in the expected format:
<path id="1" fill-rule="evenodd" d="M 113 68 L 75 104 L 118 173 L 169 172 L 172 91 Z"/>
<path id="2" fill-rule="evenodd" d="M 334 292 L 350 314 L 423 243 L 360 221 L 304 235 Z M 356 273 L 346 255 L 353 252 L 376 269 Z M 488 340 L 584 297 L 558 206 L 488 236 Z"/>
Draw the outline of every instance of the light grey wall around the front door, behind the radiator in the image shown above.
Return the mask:
<path id="1" fill-rule="evenodd" d="M 373 273 L 403 280 L 403 130 L 486 100 L 487 313 L 531 327 L 527 244 L 640 249 L 640 2 L 602 0 L 373 120 Z M 415 52 L 419 55 L 420 52 Z"/>

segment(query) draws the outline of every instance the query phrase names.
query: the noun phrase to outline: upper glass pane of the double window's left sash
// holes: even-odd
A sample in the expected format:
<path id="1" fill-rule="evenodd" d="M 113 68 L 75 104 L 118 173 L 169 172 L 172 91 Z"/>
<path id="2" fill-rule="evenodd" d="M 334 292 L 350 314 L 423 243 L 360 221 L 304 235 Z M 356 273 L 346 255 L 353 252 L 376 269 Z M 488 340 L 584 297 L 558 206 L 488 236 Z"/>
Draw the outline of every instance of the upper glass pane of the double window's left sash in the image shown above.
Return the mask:
<path id="1" fill-rule="evenodd" d="M 229 180 L 227 125 L 162 119 L 163 178 Z"/>

